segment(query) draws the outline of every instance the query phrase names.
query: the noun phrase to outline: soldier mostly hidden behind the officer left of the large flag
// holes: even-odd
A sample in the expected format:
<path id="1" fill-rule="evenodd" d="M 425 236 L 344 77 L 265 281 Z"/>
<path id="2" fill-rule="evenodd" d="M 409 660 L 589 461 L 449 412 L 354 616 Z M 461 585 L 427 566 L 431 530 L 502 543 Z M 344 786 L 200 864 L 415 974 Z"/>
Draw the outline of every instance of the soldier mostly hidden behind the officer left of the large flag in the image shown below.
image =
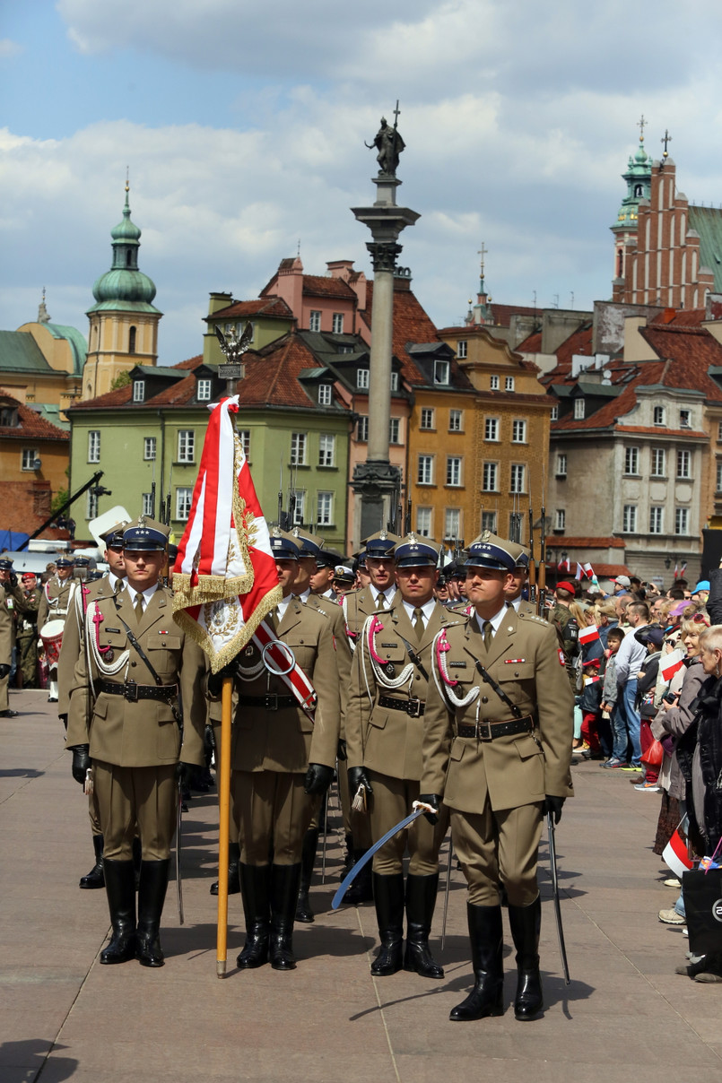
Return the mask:
<path id="1" fill-rule="evenodd" d="M 128 525 L 128 520 L 119 521 L 101 535 L 105 543 L 103 559 L 108 565 L 107 574 L 89 584 L 78 582 L 73 596 L 73 602 L 63 631 L 60 658 L 57 661 L 57 714 L 63 726 L 66 728 L 73 675 L 78 657 L 86 650 L 83 630 L 88 605 L 91 601 L 98 601 L 101 598 L 111 598 L 125 587 L 126 565 L 123 559 L 123 532 Z M 93 840 L 95 861 L 90 872 L 80 877 L 78 887 L 83 890 L 93 890 L 105 887 L 105 878 L 103 876 L 104 840 L 98 809 L 98 794 L 94 787 L 91 788 L 91 793 L 88 795 L 88 815 L 90 818 L 90 832 Z"/>

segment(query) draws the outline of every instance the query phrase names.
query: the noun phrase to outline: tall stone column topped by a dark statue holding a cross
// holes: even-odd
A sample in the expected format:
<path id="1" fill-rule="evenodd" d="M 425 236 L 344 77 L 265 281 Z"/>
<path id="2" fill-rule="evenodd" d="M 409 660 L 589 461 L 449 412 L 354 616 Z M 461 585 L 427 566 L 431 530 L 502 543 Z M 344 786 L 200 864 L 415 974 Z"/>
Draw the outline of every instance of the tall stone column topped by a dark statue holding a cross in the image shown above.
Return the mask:
<path id="1" fill-rule="evenodd" d="M 421 217 L 408 207 L 397 207 L 396 190 L 401 184 L 396 170 L 404 148 L 397 130 L 399 107 L 391 128 L 382 117 L 381 129 L 372 144 L 378 151 L 376 201 L 373 207 L 353 207 L 359 222 L 371 230 L 366 243 L 374 269 L 373 309 L 371 313 L 371 364 L 369 378 L 369 443 L 366 461 L 353 470 L 351 485 L 356 495 L 353 514 L 354 544 L 387 526 L 394 519 L 392 501 L 400 499 L 400 470 L 389 462 L 389 422 L 391 417 L 391 354 L 394 331 L 394 272 L 401 252 L 399 234 Z"/>

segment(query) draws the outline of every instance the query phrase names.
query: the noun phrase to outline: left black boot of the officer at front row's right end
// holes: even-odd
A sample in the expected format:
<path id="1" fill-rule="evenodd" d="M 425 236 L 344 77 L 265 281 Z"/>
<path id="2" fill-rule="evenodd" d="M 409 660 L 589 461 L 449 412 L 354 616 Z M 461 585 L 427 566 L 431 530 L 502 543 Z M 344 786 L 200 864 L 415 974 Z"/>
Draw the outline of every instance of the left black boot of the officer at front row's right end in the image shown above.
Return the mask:
<path id="1" fill-rule="evenodd" d="M 468 935 L 475 986 L 465 1001 L 451 1009 L 454 1022 L 503 1015 L 504 963 L 501 906 L 474 906 L 466 903 Z"/>

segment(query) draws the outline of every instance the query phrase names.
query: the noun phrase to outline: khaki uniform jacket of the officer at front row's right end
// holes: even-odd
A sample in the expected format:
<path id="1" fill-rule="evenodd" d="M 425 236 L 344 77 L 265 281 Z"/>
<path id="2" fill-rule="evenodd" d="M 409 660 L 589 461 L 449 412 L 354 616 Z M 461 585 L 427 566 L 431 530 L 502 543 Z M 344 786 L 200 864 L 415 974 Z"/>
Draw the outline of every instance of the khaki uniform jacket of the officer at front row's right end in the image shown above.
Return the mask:
<path id="1" fill-rule="evenodd" d="M 542 617 L 507 610 L 488 652 L 476 616 L 465 626 L 450 628 L 447 639 L 446 671 L 457 683 L 447 689 L 435 657 L 425 716 L 422 793 L 443 795 L 449 808 L 479 814 L 487 797 L 494 811 L 543 801 L 546 794 L 570 797 L 573 696 L 554 629 Z M 482 680 L 477 658 L 521 715 L 531 716 L 532 732 L 493 740 L 459 736 L 460 725 L 475 728 L 478 722 L 484 738 L 489 729 L 493 733 L 493 727 L 485 723 L 514 717 Z M 443 696 L 439 686 L 444 688 Z M 474 688 L 478 695 L 466 706 L 448 706 L 447 699 L 466 699 Z"/>

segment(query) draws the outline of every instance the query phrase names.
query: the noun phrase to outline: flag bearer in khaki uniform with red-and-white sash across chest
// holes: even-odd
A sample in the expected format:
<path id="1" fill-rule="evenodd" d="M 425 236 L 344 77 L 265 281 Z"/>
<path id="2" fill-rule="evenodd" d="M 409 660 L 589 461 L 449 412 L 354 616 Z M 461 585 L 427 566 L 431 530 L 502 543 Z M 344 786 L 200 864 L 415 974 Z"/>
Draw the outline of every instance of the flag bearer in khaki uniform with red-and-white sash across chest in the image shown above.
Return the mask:
<path id="1" fill-rule="evenodd" d="M 292 970 L 310 798 L 324 794 L 333 778 L 340 700 L 331 622 L 294 596 L 299 542 L 279 527 L 270 540 L 283 600 L 265 625 L 280 645 L 261 653 L 252 642 L 236 660 L 231 791 L 247 932 L 237 965 L 270 961 L 276 970 Z"/>

